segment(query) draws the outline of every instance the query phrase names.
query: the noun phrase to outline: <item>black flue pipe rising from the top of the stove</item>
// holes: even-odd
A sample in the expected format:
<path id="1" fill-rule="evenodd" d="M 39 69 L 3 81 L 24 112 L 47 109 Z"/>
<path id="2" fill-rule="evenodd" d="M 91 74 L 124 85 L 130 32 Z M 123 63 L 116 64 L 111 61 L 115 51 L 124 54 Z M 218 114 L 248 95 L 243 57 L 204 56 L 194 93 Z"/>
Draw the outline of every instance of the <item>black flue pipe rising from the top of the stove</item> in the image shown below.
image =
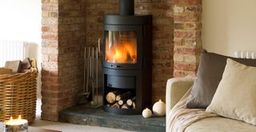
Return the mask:
<path id="1" fill-rule="evenodd" d="M 134 15 L 134 0 L 119 0 L 120 15 Z"/>

